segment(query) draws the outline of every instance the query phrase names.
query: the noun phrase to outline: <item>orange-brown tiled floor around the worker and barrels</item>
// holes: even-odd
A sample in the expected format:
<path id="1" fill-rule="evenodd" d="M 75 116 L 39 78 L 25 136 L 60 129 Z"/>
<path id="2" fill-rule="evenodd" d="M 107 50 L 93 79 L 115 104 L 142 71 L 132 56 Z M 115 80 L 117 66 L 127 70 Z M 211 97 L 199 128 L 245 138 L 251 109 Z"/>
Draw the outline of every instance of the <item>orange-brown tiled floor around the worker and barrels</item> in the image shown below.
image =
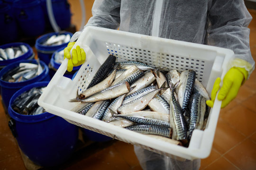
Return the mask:
<path id="1" fill-rule="evenodd" d="M 79 1 L 70 0 L 73 24 L 80 27 Z M 87 20 L 93 0 L 86 0 Z M 256 10 L 249 9 L 253 20 L 250 47 L 256 60 Z M 237 98 L 220 111 L 210 156 L 201 160 L 200 170 L 256 169 L 256 73 L 241 87 Z M 120 141 L 94 143 L 77 152 L 57 169 L 64 170 L 141 170 L 133 145 Z M 8 119 L 0 104 L 0 170 L 26 170 Z"/>

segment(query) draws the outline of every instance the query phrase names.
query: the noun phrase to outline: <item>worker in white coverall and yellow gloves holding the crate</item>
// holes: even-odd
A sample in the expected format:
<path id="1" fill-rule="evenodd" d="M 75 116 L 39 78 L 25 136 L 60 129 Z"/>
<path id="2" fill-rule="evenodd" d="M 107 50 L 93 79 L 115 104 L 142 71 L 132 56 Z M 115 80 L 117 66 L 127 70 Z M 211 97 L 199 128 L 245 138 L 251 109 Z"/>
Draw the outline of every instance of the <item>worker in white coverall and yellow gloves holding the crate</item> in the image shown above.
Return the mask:
<path id="1" fill-rule="evenodd" d="M 249 25 L 252 17 L 244 0 L 95 0 L 92 17 L 84 26 L 152 35 L 162 38 L 207 44 L 231 49 L 235 57 L 229 61 L 228 72 L 217 78 L 211 91 L 213 106 L 216 97 L 227 106 L 237 95 L 255 68 L 249 47 Z M 70 50 L 81 32 L 76 32 L 64 50 L 67 70 L 81 65 L 85 52 L 79 46 Z M 207 57 L 207 56 L 206 56 Z M 220 90 L 219 90 L 220 88 Z M 173 159 L 135 146 L 135 153 L 143 169 L 198 170 L 200 159 L 193 161 Z"/>

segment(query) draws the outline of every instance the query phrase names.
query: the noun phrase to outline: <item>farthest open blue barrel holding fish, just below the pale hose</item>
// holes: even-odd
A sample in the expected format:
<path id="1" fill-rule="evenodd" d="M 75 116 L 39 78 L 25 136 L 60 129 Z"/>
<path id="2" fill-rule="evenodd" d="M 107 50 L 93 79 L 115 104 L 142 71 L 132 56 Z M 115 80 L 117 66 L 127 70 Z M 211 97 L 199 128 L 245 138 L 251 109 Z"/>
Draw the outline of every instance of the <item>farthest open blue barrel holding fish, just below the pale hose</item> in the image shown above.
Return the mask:
<path id="1" fill-rule="evenodd" d="M 73 36 L 73 34 L 70 32 L 64 32 L 62 34 L 70 34 L 70 36 Z M 36 44 L 35 44 L 38 58 L 43 60 L 47 65 L 50 63 L 51 57 L 56 50 L 62 47 L 67 47 L 68 45 L 68 42 L 63 43 L 61 45 L 51 45 L 51 46 L 44 45 L 43 43 L 46 42 L 46 40 L 48 40 L 52 35 L 58 35 L 58 33 L 44 34 L 39 38 L 37 38 Z"/>

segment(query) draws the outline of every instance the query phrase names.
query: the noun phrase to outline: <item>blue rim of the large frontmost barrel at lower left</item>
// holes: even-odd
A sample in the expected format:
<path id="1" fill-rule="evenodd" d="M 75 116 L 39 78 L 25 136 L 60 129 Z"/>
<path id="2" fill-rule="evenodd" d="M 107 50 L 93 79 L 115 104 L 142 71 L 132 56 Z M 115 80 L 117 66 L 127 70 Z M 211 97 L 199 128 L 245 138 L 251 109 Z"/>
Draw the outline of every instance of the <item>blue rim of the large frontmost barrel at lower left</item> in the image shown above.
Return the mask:
<path id="1" fill-rule="evenodd" d="M 23 122 L 23 123 L 36 123 L 36 122 L 45 121 L 47 119 L 51 119 L 52 117 L 55 117 L 56 115 L 51 114 L 49 112 L 44 112 L 38 115 L 22 115 L 14 111 L 11 107 L 11 104 L 20 94 L 32 89 L 33 87 L 45 87 L 48 85 L 48 83 L 49 81 L 35 82 L 30 85 L 26 85 L 21 89 L 19 89 L 17 92 L 15 92 L 9 101 L 8 113 L 10 117 L 16 121 Z"/>

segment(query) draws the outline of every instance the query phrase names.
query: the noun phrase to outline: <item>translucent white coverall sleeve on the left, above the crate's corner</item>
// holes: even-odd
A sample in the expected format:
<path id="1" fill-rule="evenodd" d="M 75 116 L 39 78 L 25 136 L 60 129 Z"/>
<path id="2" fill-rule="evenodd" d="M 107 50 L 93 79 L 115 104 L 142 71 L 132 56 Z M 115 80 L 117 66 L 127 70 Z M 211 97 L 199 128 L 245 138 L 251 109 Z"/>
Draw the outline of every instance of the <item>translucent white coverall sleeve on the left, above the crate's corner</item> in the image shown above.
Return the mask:
<path id="1" fill-rule="evenodd" d="M 120 24 L 121 0 L 95 0 L 91 8 L 92 17 L 86 26 L 98 26 L 110 29 L 118 29 Z M 73 34 L 71 41 L 78 39 L 82 31 Z"/>

